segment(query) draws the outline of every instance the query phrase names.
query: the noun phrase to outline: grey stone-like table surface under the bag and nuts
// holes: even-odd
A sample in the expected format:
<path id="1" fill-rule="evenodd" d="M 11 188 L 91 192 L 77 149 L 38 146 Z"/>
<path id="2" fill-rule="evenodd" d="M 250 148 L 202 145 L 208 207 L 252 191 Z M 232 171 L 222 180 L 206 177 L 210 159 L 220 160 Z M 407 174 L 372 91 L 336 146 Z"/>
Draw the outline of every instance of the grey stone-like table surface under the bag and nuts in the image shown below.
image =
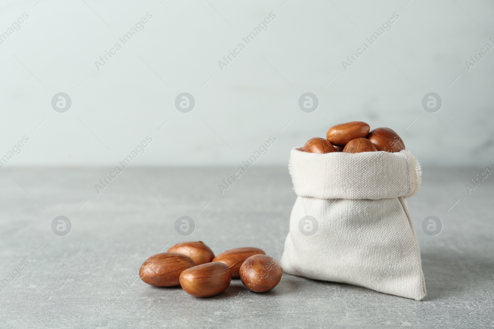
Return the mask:
<path id="1" fill-rule="evenodd" d="M 148 286 L 142 262 L 181 241 L 280 259 L 295 201 L 288 170 L 252 167 L 221 194 L 235 168 L 128 168 L 98 194 L 110 171 L 1 169 L 0 328 L 494 328 L 494 177 L 465 187 L 484 168 L 423 169 L 409 203 L 422 301 L 288 274 L 262 294 L 239 280 L 209 298 Z M 443 223 L 436 236 L 421 228 L 431 215 Z M 57 216 L 70 219 L 68 235 L 52 231 Z M 180 216 L 194 219 L 192 235 L 175 231 Z"/>

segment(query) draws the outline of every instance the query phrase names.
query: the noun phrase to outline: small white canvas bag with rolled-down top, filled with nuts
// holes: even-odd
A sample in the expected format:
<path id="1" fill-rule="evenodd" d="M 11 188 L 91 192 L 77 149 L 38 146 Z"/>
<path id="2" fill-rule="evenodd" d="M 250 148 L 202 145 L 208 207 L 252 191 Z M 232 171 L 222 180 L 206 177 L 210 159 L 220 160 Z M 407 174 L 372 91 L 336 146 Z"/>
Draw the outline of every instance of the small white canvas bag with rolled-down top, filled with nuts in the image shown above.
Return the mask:
<path id="1" fill-rule="evenodd" d="M 326 154 L 294 148 L 288 169 L 297 195 L 283 270 L 420 300 L 425 281 L 404 200 L 421 169 L 409 151 Z"/>

